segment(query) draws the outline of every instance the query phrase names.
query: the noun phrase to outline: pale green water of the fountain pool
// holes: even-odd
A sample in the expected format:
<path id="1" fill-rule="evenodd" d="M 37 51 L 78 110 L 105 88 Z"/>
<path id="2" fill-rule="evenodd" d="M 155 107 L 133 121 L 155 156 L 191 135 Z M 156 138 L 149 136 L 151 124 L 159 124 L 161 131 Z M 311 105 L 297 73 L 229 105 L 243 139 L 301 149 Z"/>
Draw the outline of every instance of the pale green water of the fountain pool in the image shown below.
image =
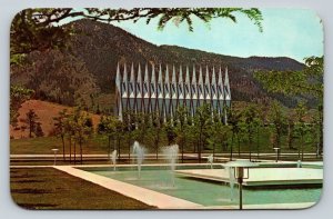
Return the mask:
<path id="1" fill-rule="evenodd" d="M 234 206 L 239 203 L 239 190 L 224 182 L 213 182 L 174 175 L 161 169 L 143 169 L 140 178 L 133 168 L 127 170 L 89 170 L 90 172 L 128 182 L 172 197 L 185 199 L 202 206 Z M 243 187 L 244 205 L 264 203 L 301 203 L 316 202 L 321 197 L 321 188 L 261 188 Z"/>

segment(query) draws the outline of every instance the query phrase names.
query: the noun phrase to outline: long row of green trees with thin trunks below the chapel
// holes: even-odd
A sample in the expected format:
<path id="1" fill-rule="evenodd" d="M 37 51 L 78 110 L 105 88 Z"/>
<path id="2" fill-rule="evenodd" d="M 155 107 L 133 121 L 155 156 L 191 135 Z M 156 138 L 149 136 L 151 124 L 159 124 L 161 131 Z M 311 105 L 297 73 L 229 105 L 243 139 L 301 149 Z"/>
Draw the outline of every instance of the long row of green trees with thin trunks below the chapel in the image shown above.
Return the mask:
<path id="1" fill-rule="evenodd" d="M 158 112 L 135 115 L 128 111 L 123 121 L 114 116 L 102 116 L 95 135 L 107 139 L 109 158 L 113 150 L 118 151 L 119 158 L 124 151 L 130 158 L 132 143 L 137 140 L 154 152 L 155 159 L 159 159 L 163 146 L 178 143 L 182 162 L 185 160 L 184 153 L 189 152 L 196 155 L 198 161 L 202 162 L 202 153 L 208 150 L 213 157 L 216 157 L 216 151 L 223 151 L 229 153 L 230 160 L 235 156 L 253 160 L 270 147 L 272 151 L 273 148 L 295 150 L 299 159 L 303 160 L 305 145 L 317 147 L 320 141 L 317 117 L 309 115 L 303 102 L 291 110 L 278 101 L 272 101 L 270 106 L 249 103 L 242 109 L 226 110 L 226 123 L 212 112 L 209 104 L 199 107 L 194 118 L 189 117 L 185 107 L 179 107 L 175 117 L 167 122 L 161 121 Z M 54 127 L 62 140 L 63 153 L 69 147 L 70 161 L 73 152 L 75 162 L 75 146 L 79 145 L 82 162 L 82 147 L 93 137 L 91 118 L 78 109 L 71 113 L 63 110 L 54 118 Z M 266 133 L 270 146 L 263 148 L 261 141 Z M 286 139 L 284 145 L 283 138 Z"/>

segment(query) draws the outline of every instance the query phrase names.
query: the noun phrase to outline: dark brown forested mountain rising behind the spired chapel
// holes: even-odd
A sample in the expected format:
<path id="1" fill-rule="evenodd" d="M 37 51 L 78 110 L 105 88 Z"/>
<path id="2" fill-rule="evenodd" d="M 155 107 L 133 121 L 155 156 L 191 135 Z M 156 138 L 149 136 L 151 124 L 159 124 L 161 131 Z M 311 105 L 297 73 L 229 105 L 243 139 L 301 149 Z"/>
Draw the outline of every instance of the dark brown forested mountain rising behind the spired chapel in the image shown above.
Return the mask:
<path id="1" fill-rule="evenodd" d="M 69 27 L 75 34 L 69 39 L 68 48 L 32 52 L 27 64 L 11 67 L 11 83 L 36 90 L 37 99 L 112 111 L 118 62 L 221 66 L 229 69 L 233 100 L 266 102 L 275 98 L 285 106 L 296 101 L 296 98 L 268 93 L 253 78 L 258 70 L 304 68 L 286 57 L 239 58 L 176 46 L 159 47 L 112 24 L 85 19 L 64 26 Z"/>

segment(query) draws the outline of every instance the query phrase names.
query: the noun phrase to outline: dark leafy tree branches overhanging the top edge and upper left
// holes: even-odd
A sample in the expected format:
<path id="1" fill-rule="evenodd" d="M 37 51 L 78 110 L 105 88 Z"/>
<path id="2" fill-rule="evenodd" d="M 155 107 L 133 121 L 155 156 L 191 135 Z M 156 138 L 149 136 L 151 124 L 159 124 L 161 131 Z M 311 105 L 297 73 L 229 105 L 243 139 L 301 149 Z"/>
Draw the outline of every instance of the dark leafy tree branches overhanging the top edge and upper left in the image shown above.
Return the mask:
<path id="1" fill-rule="evenodd" d="M 71 8 L 54 9 L 26 9 L 19 12 L 11 24 L 11 54 L 28 54 L 36 50 L 62 48 L 73 34 L 70 27 L 63 28 L 57 23 L 70 18 L 85 18 L 95 21 L 111 22 L 132 20 L 137 22 L 145 19 L 150 23 L 152 19 L 159 19 L 158 29 L 162 30 L 169 21 L 178 26 L 185 22 L 190 31 L 193 31 L 193 18 L 209 23 L 215 18 L 226 18 L 236 22 L 236 13 L 245 14 L 262 31 L 263 20 L 258 9 L 242 8 L 134 8 L 134 9 L 97 9 L 85 8 L 81 10 Z M 16 61 L 11 60 L 11 63 Z"/>

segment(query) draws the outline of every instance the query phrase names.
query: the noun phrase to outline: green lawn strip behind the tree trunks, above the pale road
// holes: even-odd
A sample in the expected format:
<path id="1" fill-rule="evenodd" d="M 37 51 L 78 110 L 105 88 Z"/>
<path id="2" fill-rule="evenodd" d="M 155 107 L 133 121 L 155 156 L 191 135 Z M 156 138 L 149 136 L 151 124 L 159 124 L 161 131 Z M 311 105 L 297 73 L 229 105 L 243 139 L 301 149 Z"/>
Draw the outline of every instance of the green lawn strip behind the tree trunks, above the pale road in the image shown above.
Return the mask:
<path id="1" fill-rule="evenodd" d="M 148 152 L 155 153 L 155 148 L 153 142 L 143 143 L 147 147 Z M 163 139 L 160 142 L 161 146 L 167 146 L 168 142 Z M 231 145 L 231 137 L 229 138 L 229 145 Z M 243 135 L 243 138 L 240 141 L 241 152 L 249 151 L 249 142 L 246 136 Z M 282 138 L 282 151 L 283 152 L 297 152 L 296 148 L 300 146 L 299 140 L 294 142 L 294 150 L 287 148 L 286 137 Z M 111 141 L 111 151 L 113 150 L 114 141 Z M 11 155 L 53 155 L 51 151 L 52 148 L 59 149 L 59 155 L 62 155 L 62 142 L 60 138 L 57 137 L 41 137 L 41 138 L 27 138 L 27 139 L 11 139 L 10 140 L 10 153 Z M 128 153 L 129 146 L 127 139 L 121 140 L 121 153 Z M 184 147 L 185 152 L 194 152 L 193 151 L 193 142 L 188 142 Z M 102 136 L 93 136 L 91 137 L 88 142 L 84 142 L 83 147 L 83 155 L 108 155 L 108 141 Z M 259 150 L 260 152 L 274 152 L 272 149 L 272 145 L 270 142 L 270 132 L 269 130 L 262 130 L 259 140 Z M 72 155 L 74 151 L 74 146 L 72 145 Z M 222 149 L 221 146 L 216 145 L 215 152 L 229 152 L 230 148 Z M 304 145 L 304 152 L 315 152 L 314 143 L 307 142 Z M 205 149 L 202 152 L 212 153 L 212 146 L 206 145 Z M 238 152 L 238 140 L 234 139 L 233 142 L 233 152 Z M 256 136 L 254 136 L 252 152 L 256 152 Z M 69 142 L 65 140 L 65 153 L 69 155 Z M 80 153 L 80 148 L 77 146 L 77 156 Z"/>

